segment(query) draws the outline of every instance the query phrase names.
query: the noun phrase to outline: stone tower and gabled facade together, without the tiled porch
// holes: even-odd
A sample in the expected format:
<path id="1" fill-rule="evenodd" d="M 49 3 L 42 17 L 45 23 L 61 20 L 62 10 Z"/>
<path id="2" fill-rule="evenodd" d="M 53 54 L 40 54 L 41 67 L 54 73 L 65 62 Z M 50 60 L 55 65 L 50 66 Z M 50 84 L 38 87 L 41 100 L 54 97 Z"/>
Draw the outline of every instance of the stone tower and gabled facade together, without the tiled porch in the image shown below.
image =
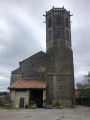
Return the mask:
<path id="1" fill-rule="evenodd" d="M 46 53 L 23 60 L 11 75 L 11 84 L 20 78 L 45 80 L 46 101 L 53 106 L 62 101 L 70 107 L 75 100 L 70 16 L 64 7 L 46 12 Z"/>

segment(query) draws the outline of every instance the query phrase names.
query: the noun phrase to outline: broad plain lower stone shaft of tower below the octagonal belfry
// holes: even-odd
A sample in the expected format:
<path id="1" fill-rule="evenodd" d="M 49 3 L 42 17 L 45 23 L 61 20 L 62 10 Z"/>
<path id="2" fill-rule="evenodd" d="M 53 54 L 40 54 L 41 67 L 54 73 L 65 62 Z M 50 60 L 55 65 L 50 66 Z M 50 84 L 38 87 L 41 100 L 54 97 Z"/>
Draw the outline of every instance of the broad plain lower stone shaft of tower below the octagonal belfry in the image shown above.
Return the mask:
<path id="1" fill-rule="evenodd" d="M 60 51 L 49 52 L 46 80 L 47 100 L 51 99 L 54 105 L 57 101 L 69 101 L 68 106 L 75 98 L 73 56 L 71 49 L 67 47 L 63 46 Z"/>

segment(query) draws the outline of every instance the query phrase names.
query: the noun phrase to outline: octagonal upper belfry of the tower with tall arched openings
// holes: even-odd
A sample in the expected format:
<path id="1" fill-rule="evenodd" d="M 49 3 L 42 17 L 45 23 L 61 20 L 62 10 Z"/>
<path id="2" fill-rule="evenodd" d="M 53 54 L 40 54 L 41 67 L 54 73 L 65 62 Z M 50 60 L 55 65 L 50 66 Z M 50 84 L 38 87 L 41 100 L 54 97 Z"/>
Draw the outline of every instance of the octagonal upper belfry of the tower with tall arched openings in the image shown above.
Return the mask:
<path id="1" fill-rule="evenodd" d="M 47 52 L 55 45 L 65 44 L 71 48 L 70 11 L 63 8 L 52 8 L 46 12 L 46 45 Z"/>

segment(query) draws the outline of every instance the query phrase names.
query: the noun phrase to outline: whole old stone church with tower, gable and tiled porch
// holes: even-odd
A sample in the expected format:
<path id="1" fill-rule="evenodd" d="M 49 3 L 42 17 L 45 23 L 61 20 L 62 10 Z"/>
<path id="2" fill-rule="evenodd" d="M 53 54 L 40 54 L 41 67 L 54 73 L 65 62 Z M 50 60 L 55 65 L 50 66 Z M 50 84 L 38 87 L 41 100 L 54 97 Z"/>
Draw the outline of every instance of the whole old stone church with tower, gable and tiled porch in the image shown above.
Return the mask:
<path id="1" fill-rule="evenodd" d="M 13 107 L 25 107 L 30 101 L 39 108 L 45 101 L 71 106 L 75 88 L 70 16 L 64 7 L 46 12 L 46 53 L 34 54 L 12 71 L 8 88 Z"/>

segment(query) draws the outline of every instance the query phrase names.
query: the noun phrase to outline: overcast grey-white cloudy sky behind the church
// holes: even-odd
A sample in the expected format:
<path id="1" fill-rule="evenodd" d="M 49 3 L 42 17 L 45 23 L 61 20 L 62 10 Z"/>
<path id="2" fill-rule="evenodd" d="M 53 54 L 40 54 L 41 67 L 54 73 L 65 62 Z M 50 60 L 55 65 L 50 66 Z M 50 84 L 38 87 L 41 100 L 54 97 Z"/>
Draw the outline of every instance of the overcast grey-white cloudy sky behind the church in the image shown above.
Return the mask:
<path id="1" fill-rule="evenodd" d="M 75 84 L 90 71 L 90 0 L 0 0 L 0 91 L 10 85 L 11 71 L 31 55 L 46 52 L 45 12 L 71 11 Z"/>

